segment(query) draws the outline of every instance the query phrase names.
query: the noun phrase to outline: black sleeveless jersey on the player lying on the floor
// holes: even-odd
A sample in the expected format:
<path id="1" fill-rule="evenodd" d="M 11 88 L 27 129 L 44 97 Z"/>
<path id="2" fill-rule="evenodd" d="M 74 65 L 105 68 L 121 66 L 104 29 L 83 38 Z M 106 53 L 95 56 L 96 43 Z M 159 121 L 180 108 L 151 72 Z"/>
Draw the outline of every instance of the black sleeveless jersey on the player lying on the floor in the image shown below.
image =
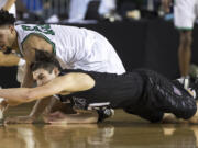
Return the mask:
<path id="1" fill-rule="evenodd" d="M 136 72 L 123 75 L 65 69 L 59 76 L 69 72 L 82 72 L 95 80 L 95 87 L 87 91 L 75 92 L 69 95 L 59 95 L 63 102 L 69 99 L 74 105 L 87 109 L 90 104 L 110 104 L 112 109 L 123 109 L 133 105 L 142 94 L 142 79 Z"/>

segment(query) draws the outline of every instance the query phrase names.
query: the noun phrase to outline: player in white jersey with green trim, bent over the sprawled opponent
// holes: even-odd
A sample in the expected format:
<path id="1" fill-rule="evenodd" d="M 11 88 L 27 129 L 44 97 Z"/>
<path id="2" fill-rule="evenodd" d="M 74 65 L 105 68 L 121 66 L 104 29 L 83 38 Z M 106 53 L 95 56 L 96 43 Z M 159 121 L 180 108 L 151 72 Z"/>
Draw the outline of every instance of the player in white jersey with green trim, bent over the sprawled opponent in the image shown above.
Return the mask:
<path id="1" fill-rule="evenodd" d="M 21 53 L 26 61 L 22 87 L 33 84 L 30 65 L 34 61 L 35 49 L 54 53 L 64 66 L 72 69 L 118 75 L 125 72 L 112 45 L 97 32 L 48 24 L 14 26 L 14 21 L 13 15 L 0 11 L 0 47 Z M 40 104 L 42 102 L 37 102 L 35 107 L 41 106 Z M 42 106 L 41 110 L 43 109 Z"/>

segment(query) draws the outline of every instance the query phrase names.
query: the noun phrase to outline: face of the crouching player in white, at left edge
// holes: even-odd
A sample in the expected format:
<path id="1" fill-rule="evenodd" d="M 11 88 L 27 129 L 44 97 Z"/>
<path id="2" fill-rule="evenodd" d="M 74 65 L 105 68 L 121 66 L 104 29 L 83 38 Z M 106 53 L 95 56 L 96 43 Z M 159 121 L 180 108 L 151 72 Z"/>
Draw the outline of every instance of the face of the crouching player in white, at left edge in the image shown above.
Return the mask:
<path id="1" fill-rule="evenodd" d="M 13 44 L 13 27 L 0 26 L 0 48 L 6 50 L 7 47 L 12 47 Z"/>

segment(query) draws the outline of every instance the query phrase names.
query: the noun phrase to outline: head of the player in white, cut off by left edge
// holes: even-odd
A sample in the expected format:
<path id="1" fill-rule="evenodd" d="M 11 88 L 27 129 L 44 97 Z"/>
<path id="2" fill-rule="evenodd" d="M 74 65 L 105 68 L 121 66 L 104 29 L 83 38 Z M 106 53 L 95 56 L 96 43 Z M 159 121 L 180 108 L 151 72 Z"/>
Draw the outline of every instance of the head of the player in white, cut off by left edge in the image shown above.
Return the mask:
<path id="1" fill-rule="evenodd" d="M 8 11 L 0 10 L 0 48 L 10 49 L 16 39 L 14 29 L 15 18 Z"/>

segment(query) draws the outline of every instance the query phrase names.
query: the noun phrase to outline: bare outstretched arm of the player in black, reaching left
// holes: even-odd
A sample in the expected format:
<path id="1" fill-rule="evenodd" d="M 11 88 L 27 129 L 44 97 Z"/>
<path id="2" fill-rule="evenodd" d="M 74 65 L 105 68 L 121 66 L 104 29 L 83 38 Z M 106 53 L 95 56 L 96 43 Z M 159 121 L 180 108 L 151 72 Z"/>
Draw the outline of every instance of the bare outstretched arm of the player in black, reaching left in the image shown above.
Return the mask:
<path id="1" fill-rule="evenodd" d="M 36 88 L 1 89 L 0 98 L 4 98 L 10 105 L 18 105 L 59 94 L 61 92 L 70 94 L 77 91 L 85 91 L 94 86 L 94 79 L 86 73 L 68 73 Z"/>

